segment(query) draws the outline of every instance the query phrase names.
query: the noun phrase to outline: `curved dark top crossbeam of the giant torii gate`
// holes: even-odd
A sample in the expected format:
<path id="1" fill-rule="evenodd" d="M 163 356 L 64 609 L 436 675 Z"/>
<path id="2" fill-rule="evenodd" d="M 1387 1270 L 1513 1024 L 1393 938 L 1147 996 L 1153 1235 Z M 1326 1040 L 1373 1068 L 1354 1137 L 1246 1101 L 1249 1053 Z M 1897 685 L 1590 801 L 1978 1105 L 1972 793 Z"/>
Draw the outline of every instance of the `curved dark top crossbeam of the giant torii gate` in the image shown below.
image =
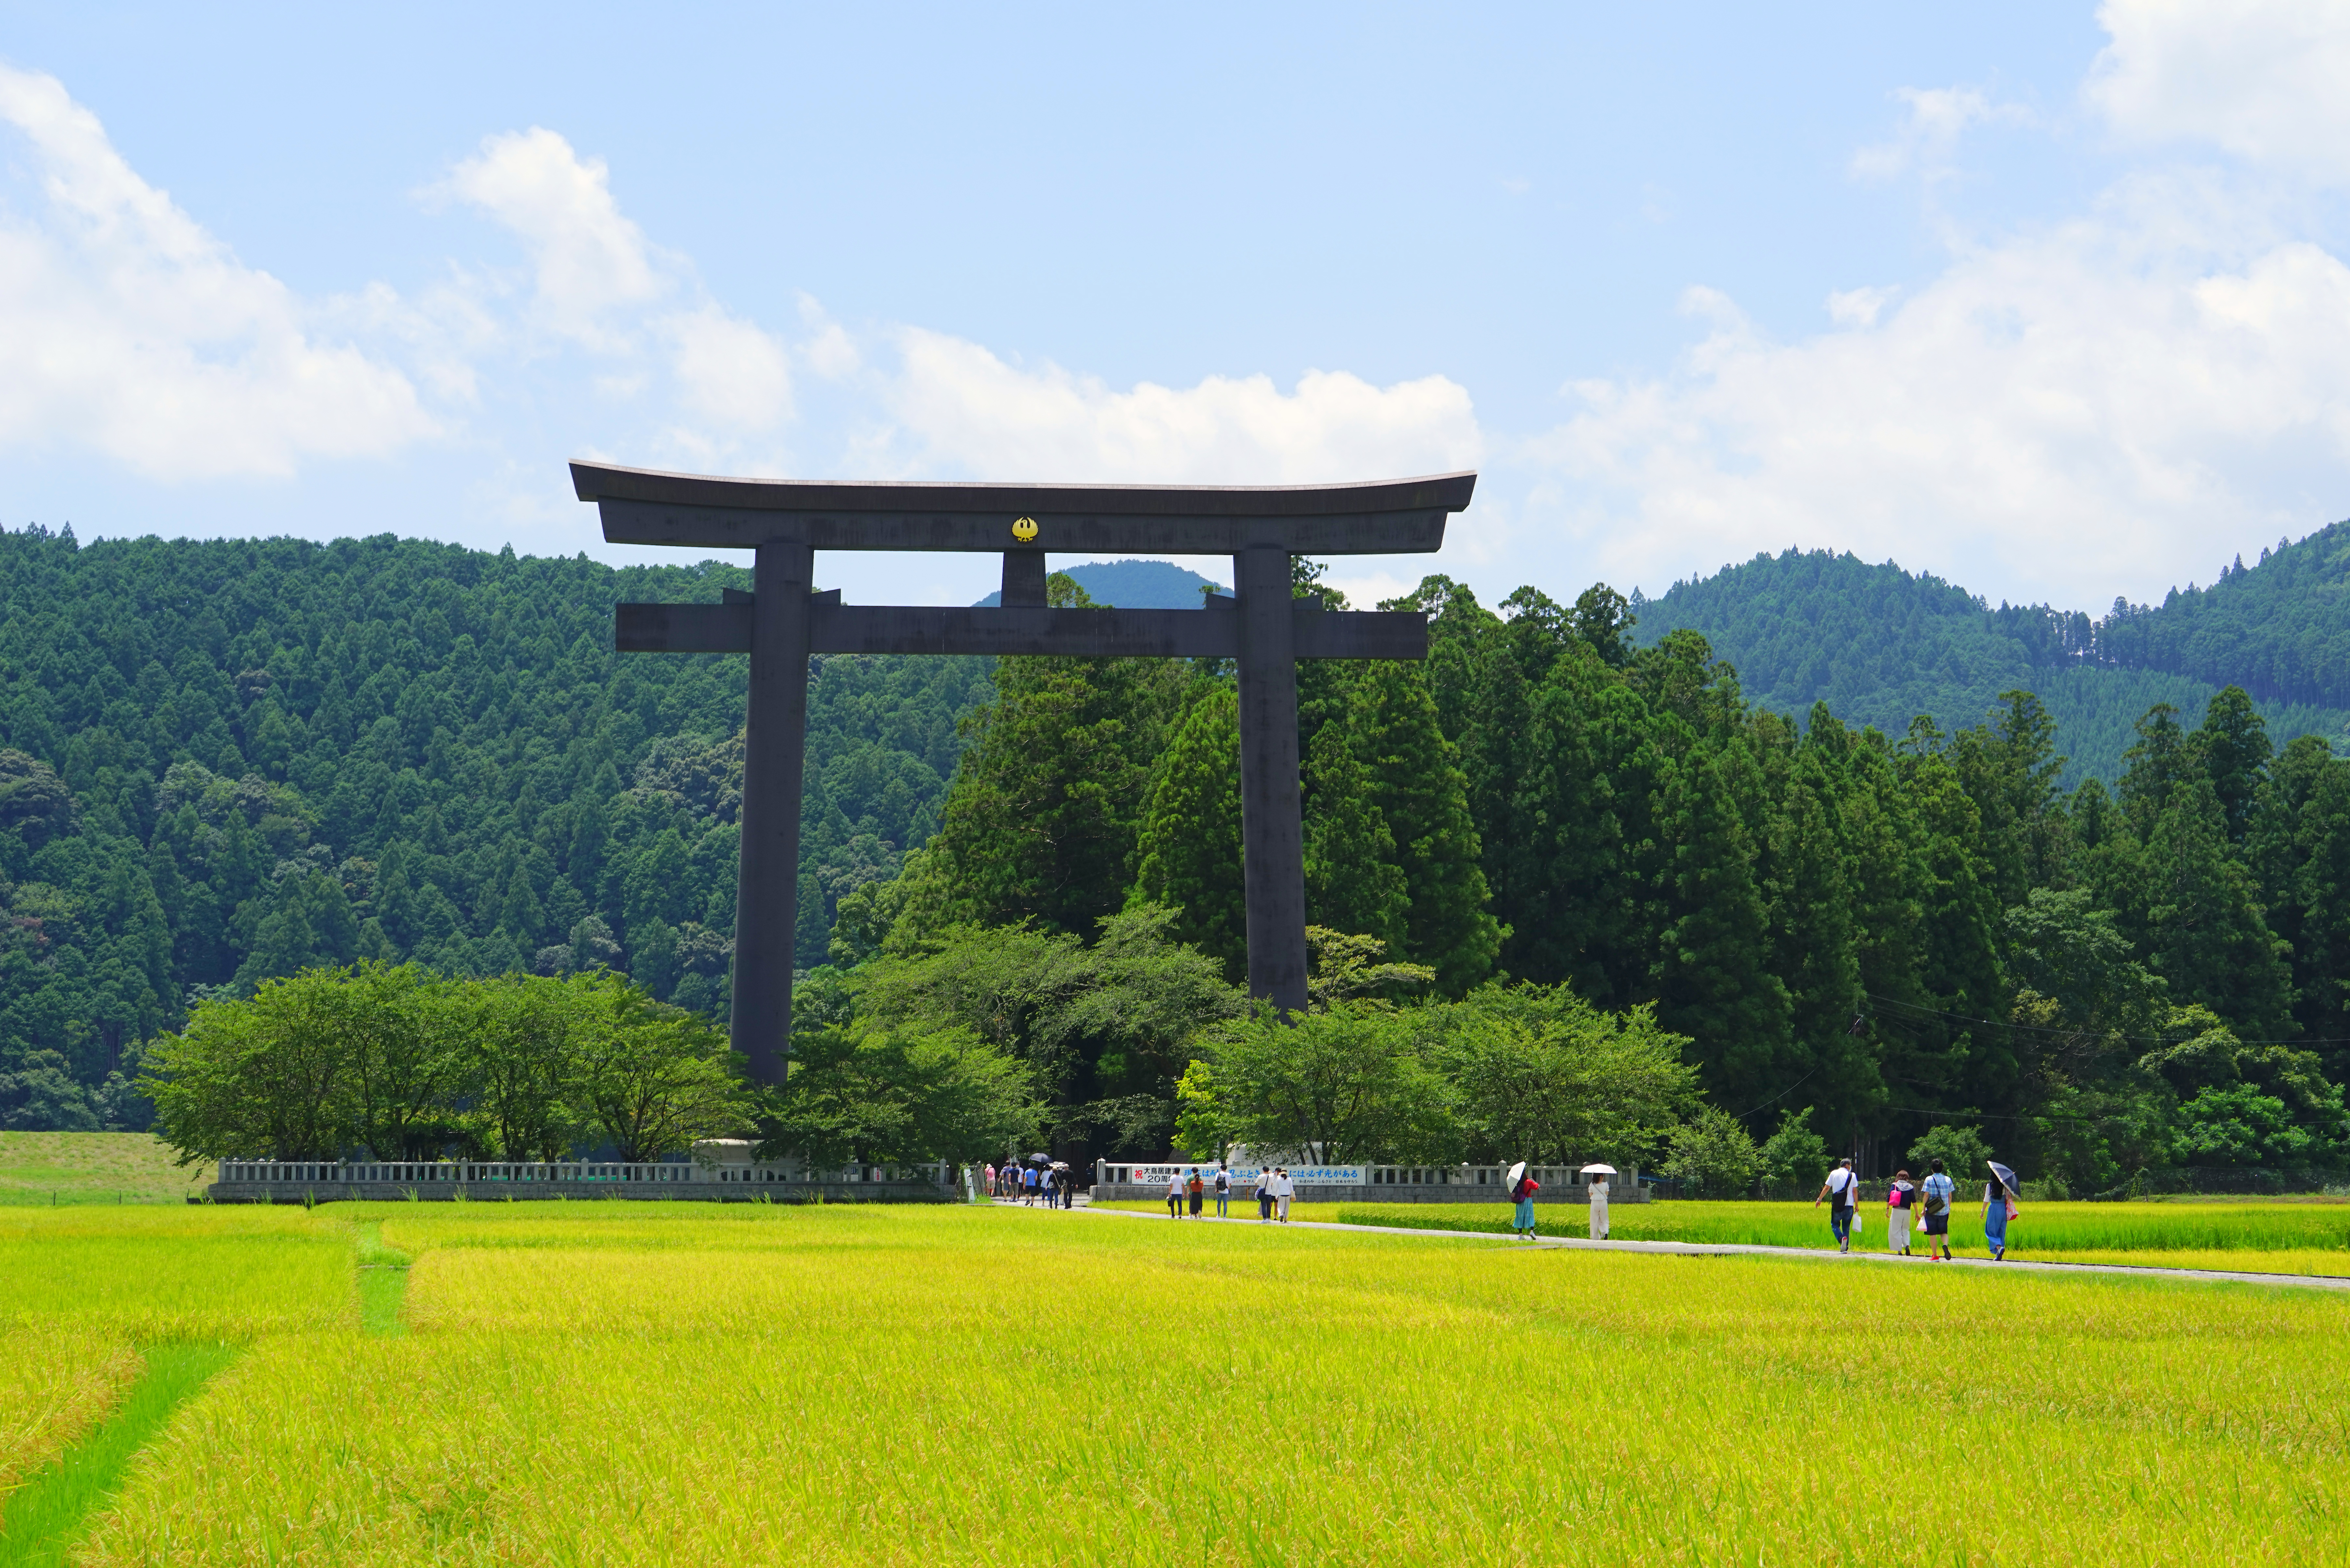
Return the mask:
<path id="1" fill-rule="evenodd" d="M 1466 510 L 1473 473 L 1375 484 L 926 484 L 721 480 L 573 463 L 616 545 L 745 550 L 1053 550 L 1424 555 Z M 1036 524 L 1013 536 L 1015 522 Z"/>

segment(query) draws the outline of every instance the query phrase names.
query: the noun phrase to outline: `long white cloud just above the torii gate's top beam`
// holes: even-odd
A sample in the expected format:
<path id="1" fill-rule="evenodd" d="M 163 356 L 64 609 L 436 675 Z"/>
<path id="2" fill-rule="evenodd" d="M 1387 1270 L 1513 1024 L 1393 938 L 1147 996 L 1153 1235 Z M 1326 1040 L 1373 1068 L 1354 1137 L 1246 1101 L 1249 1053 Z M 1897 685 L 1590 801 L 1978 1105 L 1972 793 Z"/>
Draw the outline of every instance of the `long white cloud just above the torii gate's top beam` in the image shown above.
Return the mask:
<path id="1" fill-rule="evenodd" d="M 1471 468 L 1483 449 L 1469 390 L 1445 376 L 1377 388 L 1307 371 L 1292 393 L 1271 376 L 1208 376 L 1121 393 L 938 331 L 902 329 L 898 350 L 886 393 L 898 423 L 928 463 L 975 477 L 1311 484 Z"/>

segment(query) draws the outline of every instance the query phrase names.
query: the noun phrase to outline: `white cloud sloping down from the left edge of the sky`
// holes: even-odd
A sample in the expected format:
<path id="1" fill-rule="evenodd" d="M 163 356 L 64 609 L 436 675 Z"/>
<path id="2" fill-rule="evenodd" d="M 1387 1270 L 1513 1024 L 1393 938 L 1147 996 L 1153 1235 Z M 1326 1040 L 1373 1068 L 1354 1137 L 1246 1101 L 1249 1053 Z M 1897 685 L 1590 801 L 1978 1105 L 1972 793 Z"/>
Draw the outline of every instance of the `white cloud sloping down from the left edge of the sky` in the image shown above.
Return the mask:
<path id="1" fill-rule="evenodd" d="M 0 214 L 0 442 L 197 480 L 435 433 L 400 369 L 320 341 L 317 310 L 139 179 L 56 78 L 0 66 L 0 125 L 33 186 Z"/>

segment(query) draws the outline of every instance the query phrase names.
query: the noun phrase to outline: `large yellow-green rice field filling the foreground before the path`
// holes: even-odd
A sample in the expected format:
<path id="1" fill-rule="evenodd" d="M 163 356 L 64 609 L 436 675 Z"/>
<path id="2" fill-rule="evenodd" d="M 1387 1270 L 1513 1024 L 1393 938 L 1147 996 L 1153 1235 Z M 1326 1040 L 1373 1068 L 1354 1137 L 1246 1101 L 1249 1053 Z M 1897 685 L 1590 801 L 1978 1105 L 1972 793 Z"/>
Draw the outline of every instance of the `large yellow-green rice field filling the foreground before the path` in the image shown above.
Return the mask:
<path id="1" fill-rule="evenodd" d="M 2350 1556 L 2291 1286 L 705 1204 L 16 1208 L 0 1281 L 0 1563 Z"/>

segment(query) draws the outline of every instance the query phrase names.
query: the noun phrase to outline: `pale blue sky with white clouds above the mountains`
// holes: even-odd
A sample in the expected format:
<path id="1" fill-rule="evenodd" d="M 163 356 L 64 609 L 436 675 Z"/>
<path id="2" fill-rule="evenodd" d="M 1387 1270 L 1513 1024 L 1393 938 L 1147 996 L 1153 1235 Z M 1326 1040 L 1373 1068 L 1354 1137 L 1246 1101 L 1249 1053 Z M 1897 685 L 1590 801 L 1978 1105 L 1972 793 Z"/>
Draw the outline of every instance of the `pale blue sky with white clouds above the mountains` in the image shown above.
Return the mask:
<path id="1" fill-rule="evenodd" d="M 0 522 L 1473 465 L 1335 576 L 2099 609 L 2350 512 L 2350 7 L 1267 9 L 0 5 Z"/>

